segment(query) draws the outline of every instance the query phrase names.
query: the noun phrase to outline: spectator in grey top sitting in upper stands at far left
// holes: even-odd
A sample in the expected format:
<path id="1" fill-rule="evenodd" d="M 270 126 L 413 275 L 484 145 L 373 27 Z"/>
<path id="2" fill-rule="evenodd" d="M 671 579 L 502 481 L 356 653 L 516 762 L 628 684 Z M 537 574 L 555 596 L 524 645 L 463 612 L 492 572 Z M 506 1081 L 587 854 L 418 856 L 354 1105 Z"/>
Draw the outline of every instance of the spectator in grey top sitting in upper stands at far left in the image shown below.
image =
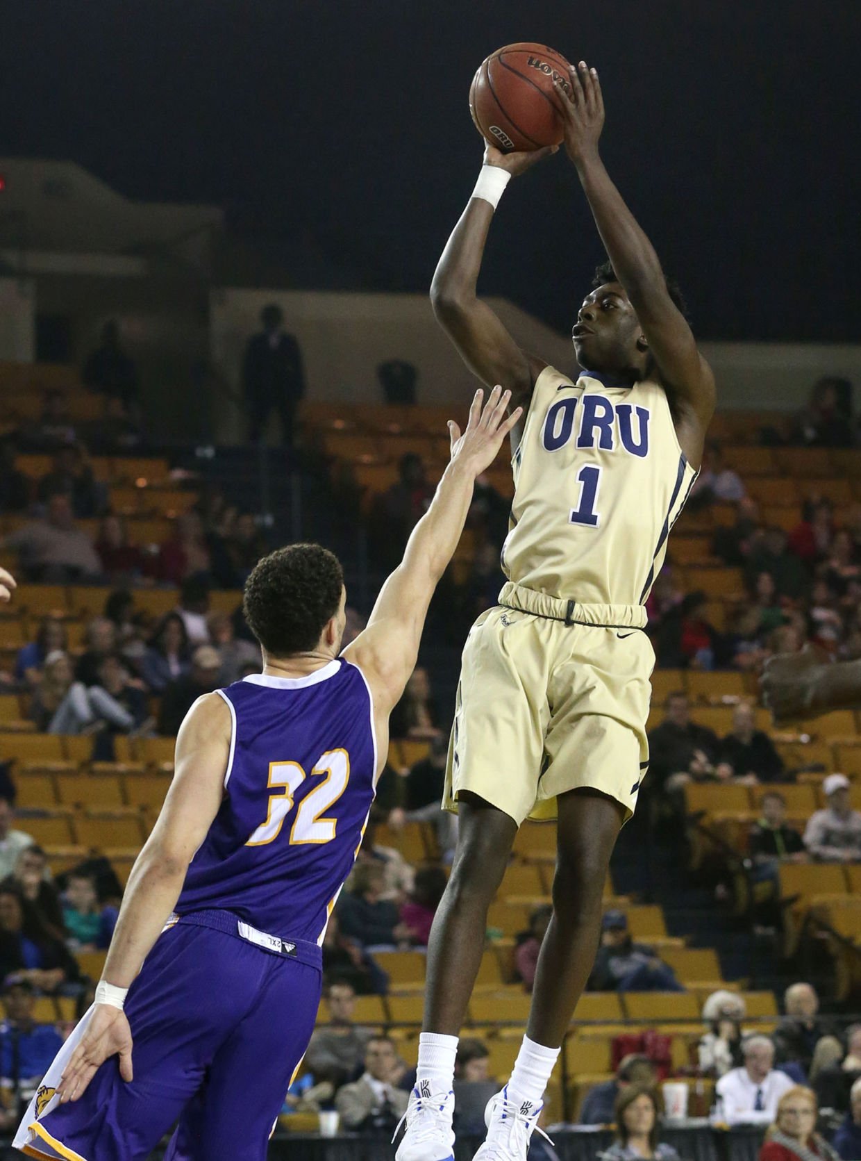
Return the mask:
<path id="1" fill-rule="evenodd" d="M 28 580 L 74 584 L 94 580 L 101 572 L 93 541 L 75 528 L 72 505 L 62 492 L 49 498 L 44 519 L 5 536 L 0 547 L 17 551 Z"/>

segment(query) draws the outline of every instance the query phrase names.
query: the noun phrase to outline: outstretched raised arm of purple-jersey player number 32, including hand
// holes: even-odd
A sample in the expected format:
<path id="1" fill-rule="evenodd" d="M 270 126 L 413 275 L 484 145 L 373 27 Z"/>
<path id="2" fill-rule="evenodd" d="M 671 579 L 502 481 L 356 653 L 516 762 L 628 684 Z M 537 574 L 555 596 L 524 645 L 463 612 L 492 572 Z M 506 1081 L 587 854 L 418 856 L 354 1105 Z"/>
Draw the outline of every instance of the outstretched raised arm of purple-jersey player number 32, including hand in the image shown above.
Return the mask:
<path id="1" fill-rule="evenodd" d="M 343 651 L 362 670 L 374 692 L 375 712 L 388 717 L 415 668 L 430 598 L 461 539 L 476 476 L 492 462 L 520 419 L 506 419 L 511 392 L 494 387 L 482 406 L 477 391 L 463 435 L 449 421 L 451 460 L 430 507 L 413 528 L 404 560 L 379 591 L 368 627 Z"/>

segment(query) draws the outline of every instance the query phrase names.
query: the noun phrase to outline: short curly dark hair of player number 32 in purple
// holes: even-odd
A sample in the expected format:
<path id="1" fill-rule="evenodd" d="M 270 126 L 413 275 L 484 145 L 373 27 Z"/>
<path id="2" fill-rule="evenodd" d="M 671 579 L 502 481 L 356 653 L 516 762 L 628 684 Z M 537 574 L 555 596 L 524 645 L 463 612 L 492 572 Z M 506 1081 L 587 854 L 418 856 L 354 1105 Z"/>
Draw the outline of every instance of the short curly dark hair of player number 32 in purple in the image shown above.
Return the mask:
<path id="1" fill-rule="evenodd" d="M 313 649 L 338 612 L 341 562 L 320 545 L 289 545 L 269 553 L 245 582 L 243 608 L 267 654 L 289 657 Z"/>

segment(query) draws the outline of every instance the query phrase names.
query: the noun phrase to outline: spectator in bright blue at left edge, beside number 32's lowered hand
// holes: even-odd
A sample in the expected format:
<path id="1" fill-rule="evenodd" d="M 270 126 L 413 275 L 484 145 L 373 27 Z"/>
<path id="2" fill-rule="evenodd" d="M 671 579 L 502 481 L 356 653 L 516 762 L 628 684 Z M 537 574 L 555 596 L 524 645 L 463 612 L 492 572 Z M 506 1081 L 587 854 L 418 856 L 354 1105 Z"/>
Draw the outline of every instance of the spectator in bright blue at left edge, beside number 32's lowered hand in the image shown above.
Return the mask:
<path id="1" fill-rule="evenodd" d="M 28 980 L 3 988 L 6 1019 L 0 1024 L 0 1087 L 15 1104 L 27 1103 L 63 1047 L 53 1024 L 34 1019 L 35 996 Z M 13 1108 L 13 1115 L 17 1109 Z"/>

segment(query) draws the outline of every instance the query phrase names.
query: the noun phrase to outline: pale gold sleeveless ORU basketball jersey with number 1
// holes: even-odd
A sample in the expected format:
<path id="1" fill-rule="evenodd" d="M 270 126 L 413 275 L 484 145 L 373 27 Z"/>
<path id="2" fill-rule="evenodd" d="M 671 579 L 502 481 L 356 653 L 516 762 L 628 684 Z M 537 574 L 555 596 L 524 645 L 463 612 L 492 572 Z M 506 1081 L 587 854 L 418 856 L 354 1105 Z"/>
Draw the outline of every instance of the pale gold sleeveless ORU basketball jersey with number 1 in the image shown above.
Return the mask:
<path id="1" fill-rule="evenodd" d="M 664 388 L 538 375 L 512 461 L 509 580 L 580 604 L 643 605 L 696 471 Z"/>

